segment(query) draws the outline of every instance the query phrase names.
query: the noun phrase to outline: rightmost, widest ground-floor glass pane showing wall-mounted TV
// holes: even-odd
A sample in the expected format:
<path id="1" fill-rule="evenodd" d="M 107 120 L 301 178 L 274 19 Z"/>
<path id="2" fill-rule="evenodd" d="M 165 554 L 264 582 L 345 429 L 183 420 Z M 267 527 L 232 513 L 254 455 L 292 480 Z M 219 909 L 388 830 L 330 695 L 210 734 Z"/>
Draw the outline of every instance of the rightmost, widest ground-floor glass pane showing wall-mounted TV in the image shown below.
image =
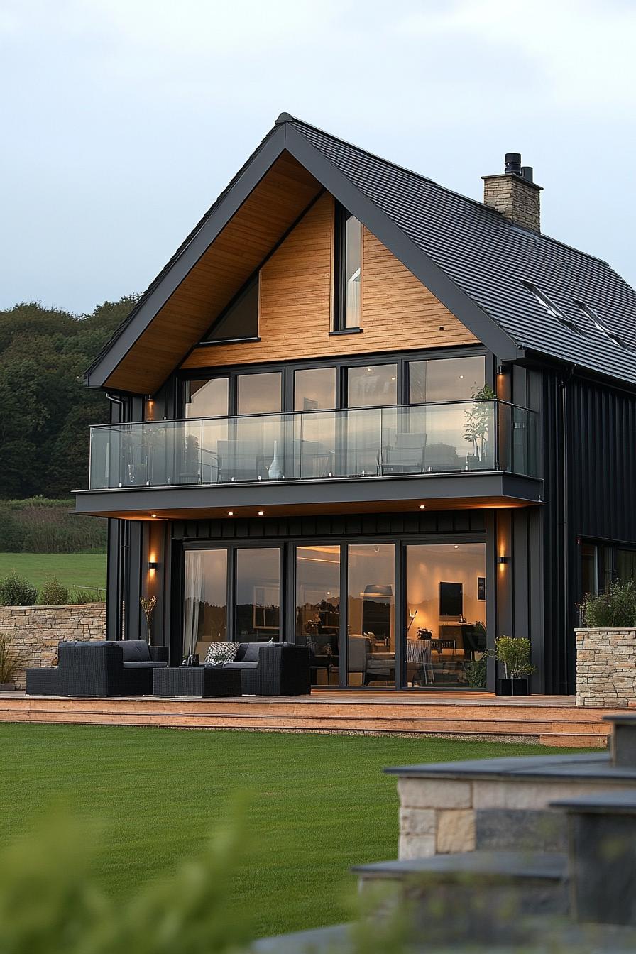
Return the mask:
<path id="1" fill-rule="evenodd" d="M 485 599 L 485 544 L 406 547 L 406 685 L 478 688 Z"/>

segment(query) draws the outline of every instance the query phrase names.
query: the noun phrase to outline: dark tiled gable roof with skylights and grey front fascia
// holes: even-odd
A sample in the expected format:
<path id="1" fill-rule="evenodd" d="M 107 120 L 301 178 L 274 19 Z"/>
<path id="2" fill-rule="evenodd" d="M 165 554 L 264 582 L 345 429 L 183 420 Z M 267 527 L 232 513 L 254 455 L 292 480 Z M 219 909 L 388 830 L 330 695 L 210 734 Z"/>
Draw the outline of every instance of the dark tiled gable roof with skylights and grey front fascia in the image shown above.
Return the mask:
<path id="1" fill-rule="evenodd" d="M 636 292 L 605 261 L 528 232 L 481 202 L 289 114 L 278 117 L 117 329 L 87 372 L 88 384 L 113 386 L 117 366 L 283 154 L 310 174 L 316 195 L 324 188 L 337 197 L 502 360 L 529 350 L 636 384 Z M 309 183 L 302 196 L 311 199 Z M 548 314 L 524 282 L 554 301 L 567 321 Z M 173 356 L 163 378 L 175 363 Z M 132 389 L 152 388 L 144 382 Z"/>

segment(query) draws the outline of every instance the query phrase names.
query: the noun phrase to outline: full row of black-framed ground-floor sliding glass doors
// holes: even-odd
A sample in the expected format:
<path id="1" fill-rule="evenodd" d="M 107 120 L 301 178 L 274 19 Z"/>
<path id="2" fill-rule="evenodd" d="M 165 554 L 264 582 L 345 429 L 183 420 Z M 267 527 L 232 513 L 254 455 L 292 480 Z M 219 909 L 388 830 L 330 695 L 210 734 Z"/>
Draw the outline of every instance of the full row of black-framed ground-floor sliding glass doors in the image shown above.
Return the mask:
<path id="1" fill-rule="evenodd" d="M 481 688 L 486 590 L 482 542 L 192 547 L 182 653 L 289 639 L 315 686 Z"/>

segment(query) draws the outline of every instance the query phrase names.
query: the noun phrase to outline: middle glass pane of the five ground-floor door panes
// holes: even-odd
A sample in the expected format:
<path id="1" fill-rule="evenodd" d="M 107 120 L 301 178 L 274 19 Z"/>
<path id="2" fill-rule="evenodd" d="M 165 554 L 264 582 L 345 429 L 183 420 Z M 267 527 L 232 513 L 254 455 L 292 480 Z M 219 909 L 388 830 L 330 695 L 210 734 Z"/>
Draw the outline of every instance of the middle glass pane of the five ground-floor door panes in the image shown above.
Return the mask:
<path id="1" fill-rule="evenodd" d="M 309 646 L 314 685 L 338 685 L 340 548 L 297 547 L 296 641 Z"/>

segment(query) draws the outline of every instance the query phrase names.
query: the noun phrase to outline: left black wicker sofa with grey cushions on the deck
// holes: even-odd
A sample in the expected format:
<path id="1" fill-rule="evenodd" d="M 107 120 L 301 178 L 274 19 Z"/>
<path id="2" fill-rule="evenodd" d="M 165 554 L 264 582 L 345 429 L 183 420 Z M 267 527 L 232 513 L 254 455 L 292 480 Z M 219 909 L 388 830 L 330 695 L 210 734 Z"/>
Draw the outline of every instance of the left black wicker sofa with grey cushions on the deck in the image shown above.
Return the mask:
<path id="1" fill-rule="evenodd" d="M 57 666 L 27 670 L 27 695 L 152 695 L 168 648 L 143 639 L 60 642 Z"/>

